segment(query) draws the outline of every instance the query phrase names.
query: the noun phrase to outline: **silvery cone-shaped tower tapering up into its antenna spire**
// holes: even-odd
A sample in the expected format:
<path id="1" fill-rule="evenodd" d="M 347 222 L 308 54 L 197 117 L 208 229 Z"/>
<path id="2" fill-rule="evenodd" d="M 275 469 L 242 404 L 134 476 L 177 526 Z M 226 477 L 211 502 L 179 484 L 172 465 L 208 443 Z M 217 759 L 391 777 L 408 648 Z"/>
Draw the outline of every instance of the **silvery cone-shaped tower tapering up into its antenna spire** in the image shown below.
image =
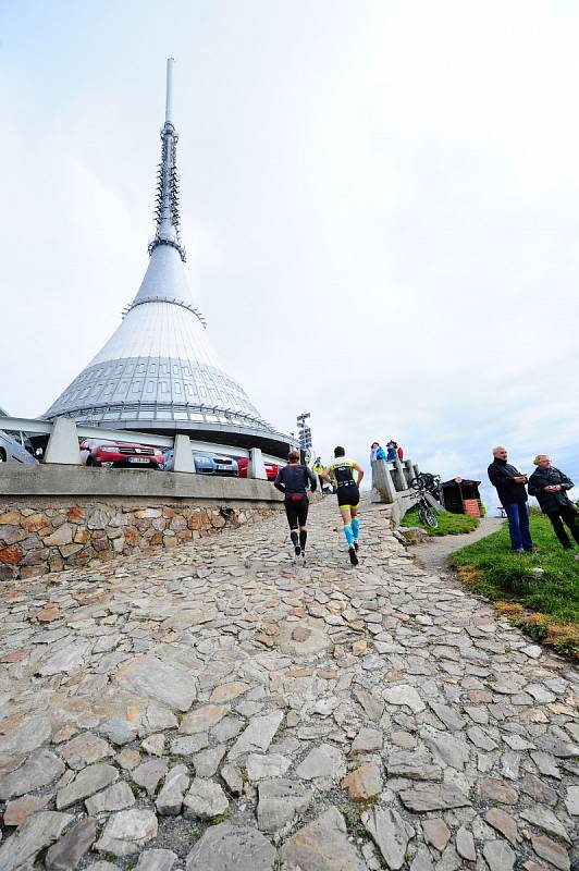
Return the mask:
<path id="1" fill-rule="evenodd" d="M 45 417 L 72 417 L 110 429 L 188 432 L 279 454 L 293 440 L 261 418 L 225 370 L 187 284 L 180 237 L 172 72 L 171 58 L 157 226 L 145 278 L 119 329 Z"/>

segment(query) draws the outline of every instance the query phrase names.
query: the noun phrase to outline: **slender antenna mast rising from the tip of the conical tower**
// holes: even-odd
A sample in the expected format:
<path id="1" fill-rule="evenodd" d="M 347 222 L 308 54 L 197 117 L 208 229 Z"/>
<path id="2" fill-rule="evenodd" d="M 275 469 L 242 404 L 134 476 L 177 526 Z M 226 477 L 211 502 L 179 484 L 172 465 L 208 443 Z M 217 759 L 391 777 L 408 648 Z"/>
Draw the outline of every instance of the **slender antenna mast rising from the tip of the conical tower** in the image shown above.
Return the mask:
<path id="1" fill-rule="evenodd" d="M 185 260 L 185 248 L 181 244 L 178 218 L 178 175 L 176 164 L 177 132 L 173 125 L 173 68 L 175 61 L 167 61 L 167 97 L 164 124 L 161 127 L 161 162 L 157 173 L 157 197 L 155 219 L 157 229 L 149 243 L 149 254 L 158 245 L 171 245 L 176 248 L 181 259 Z"/>

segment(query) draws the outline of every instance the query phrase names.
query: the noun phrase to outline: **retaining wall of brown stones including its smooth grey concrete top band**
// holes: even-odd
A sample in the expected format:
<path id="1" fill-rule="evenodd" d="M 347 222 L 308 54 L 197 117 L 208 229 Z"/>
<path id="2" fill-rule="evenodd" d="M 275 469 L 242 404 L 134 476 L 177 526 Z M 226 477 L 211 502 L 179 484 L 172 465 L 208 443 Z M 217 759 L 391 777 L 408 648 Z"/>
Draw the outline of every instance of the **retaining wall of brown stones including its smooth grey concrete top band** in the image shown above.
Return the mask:
<path id="1" fill-rule="evenodd" d="M 174 548 L 282 508 L 268 481 L 0 465 L 0 581 Z"/>

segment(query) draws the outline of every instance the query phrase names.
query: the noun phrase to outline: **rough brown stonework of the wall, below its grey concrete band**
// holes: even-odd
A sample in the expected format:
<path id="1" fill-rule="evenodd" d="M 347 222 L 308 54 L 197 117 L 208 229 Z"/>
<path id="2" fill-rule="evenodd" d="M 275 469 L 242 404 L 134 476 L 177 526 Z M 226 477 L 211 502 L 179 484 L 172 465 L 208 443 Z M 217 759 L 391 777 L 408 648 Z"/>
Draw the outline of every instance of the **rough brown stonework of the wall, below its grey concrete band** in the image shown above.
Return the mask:
<path id="1" fill-rule="evenodd" d="M 254 523 L 281 507 L 279 503 L 232 507 L 144 502 L 2 500 L 0 580 L 97 565 L 150 548 L 174 548 L 226 526 Z"/>

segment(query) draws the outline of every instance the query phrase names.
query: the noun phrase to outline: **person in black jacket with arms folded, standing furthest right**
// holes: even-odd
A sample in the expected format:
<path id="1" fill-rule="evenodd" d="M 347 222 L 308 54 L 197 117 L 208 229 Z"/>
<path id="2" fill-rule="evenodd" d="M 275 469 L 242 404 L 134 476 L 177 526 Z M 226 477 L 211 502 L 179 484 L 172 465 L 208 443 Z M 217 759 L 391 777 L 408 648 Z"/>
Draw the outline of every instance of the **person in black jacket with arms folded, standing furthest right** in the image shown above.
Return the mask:
<path id="1" fill-rule="evenodd" d="M 579 544 L 579 527 L 577 514 L 572 502 L 567 495 L 574 482 L 560 469 L 551 465 L 546 454 L 538 454 L 533 459 L 537 469 L 529 478 L 529 495 L 537 496 L 543 514 L 546 514 L 555 535 L 566 551 L 572 550 L 572 544 L 563 526 L 563 520 L 570 529 L 571 536 Z"/>

